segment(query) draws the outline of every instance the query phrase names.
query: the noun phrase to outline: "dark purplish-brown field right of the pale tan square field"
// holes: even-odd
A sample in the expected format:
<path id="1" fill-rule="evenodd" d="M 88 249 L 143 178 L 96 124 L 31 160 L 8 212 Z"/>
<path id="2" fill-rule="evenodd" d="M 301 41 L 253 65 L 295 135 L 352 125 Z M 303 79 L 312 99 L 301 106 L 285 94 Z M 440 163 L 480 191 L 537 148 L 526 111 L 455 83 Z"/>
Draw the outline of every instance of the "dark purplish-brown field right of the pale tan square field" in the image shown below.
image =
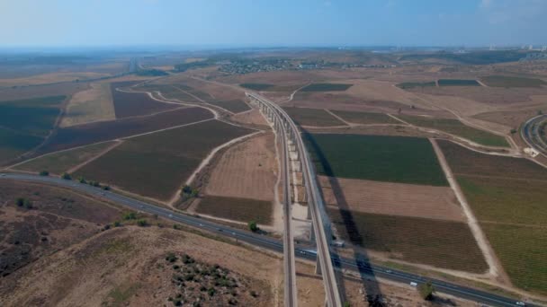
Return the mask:
<path id="1" fill-rule="evenodd" d="M 161 111 L 173 110 L 175 104 L 155 101 L 142 92 L 121 92 L 116 90 L 119 83 L 112 83 L 112 100 L 116 118 L 150 115 Z"/>

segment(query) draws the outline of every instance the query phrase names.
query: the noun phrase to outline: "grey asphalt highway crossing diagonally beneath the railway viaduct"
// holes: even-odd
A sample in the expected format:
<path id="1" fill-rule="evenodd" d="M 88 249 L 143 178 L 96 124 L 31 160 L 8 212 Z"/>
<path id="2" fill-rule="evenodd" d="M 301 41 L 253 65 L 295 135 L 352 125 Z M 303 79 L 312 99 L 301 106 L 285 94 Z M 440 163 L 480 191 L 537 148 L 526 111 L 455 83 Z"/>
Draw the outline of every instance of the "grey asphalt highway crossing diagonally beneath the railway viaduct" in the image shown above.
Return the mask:
<path id="1" fill-rule="evenodd" d="M 272 250 L 275 252 L 283 252 L 283 243 L 280 240 L 267 237 L 265 235 L 256 234 L 253 232 L 242 231 L 236 228 L 232 228 L 222 224 L 216 224 L 214 222 L 203 220 L 202 218 L 184 215 L 177 213 L 173 210 L 148 204 L 138 199 L 121 196 L 112 191 L 105 191 L 103 189 L 94 188 L 87 184 L 78 183 L 73 180 L 62 180 L 56 177 L 38 176 L 30 174 L 19 173 L 0 173 L 0 180 L 22 180 L 31 182 L 42 182 L 52 184 L 68 189 L 73 189 L 77 192 L 93 195 L 96 197 L 103 197 L 112 201 L 115 204 L 121 206 L 127 206 L 143 213 L 151 215 L 158 215 L 169 219 L 171 221 L 185 224 L 191 227 L 202 229 L 203 231 L 216 233 L 225 237 L 236 239 L 238 241 L 244 241 L 248 244 L 264 248 L 266 250 Z M 309 250 L 309 247 L 296 246 L 295 254 L 300 259 L 308 259 L 311 261 L 317 260 L 317 252 L 315 250 Z M 367 273 L 373 273 L 373 276 L 385 278 L 391 281 L 409 284 L 415 282 L 418 285 L 431 281 L 435 285 L 437 292 L 444 294 L 451 294 L 456 297 L 468 299 L 478 303 L 484 303 L 489 306 L 516 306 L 516 300 L 504 297 L 498 294 L 490 294 L 486 291 L 473 289 L 468 286 L 456 285 L 453 283 L 444 282 L 441 280 L 426 278 L 415 274 L 406 273 L 403 271 L 385 268 L 381 266 L 375 266 L 365 262 L 356 262 L 354 259 L 345 259 L 332 256 L 333 264 L 336 268 L 343 268 L 351 271 L 360 272 L 366 276 Z M 535 306 L 534 304 L 526 303 L 526 306 Z"/>

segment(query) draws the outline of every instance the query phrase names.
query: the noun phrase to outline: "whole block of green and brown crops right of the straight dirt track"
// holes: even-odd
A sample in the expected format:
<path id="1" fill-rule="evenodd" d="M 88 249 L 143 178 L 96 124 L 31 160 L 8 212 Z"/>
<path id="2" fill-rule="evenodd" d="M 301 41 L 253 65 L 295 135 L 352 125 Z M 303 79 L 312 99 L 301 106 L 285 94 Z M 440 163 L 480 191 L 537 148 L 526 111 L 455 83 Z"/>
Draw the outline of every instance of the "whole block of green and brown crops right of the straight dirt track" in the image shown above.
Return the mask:
<path id="1" fill-rule="evenodd" d="M 547 294 L 547 171 L 522 158 L 438 144 L 513 284 Z"/>

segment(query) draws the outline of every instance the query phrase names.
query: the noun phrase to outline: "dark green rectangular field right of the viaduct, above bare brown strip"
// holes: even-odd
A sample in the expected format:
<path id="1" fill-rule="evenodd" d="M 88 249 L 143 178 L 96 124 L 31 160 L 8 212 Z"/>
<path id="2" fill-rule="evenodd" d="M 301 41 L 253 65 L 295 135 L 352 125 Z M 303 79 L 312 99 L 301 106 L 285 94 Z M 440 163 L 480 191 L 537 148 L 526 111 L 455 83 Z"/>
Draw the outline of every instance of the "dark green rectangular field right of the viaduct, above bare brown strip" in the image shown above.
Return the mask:
<path id="1" fill-rule="evenodd" d="M 305 142 L 321 175 L 448 186 L 426 138 L 306 134 Z"/>

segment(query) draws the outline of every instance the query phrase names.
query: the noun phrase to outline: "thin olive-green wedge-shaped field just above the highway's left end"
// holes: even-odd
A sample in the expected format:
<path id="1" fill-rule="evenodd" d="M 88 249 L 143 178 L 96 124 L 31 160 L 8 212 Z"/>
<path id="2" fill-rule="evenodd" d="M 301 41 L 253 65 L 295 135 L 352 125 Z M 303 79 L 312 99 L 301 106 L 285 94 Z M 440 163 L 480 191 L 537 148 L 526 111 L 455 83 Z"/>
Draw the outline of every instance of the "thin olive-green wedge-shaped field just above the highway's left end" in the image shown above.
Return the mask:
<path id="1" fill-rule="evenodd" d="M 114 142 L 105 142 L 96 145 L 88 145 L 73 150 L 67 150 L 61 153 L 52 153 L 29 162 L 16 166 L 15 170 L 21 171 L 49 171 L 54 174 L 62 174 L 76 165 L 83 163 L 95 155 L 103 152 L 106 148 L 113 145 Z"/>

